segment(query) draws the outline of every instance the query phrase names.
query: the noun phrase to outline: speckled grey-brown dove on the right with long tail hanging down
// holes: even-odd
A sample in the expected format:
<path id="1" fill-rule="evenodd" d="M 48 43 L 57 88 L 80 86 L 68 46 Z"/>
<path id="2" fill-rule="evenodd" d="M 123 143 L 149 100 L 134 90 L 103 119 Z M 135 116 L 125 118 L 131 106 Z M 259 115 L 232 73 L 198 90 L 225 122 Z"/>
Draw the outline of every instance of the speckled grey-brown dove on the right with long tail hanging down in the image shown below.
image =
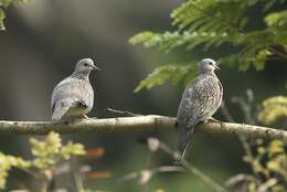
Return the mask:
<path id="1" fill-rule="evenodd" d="M 183 92 L 176 124 L 179 130 L 177 150 L 180 159 L 184 157 L 194 126 L 209 120 L 221 105 L 223 88 L 215 70 L 219 67 L 213 60 L 202 60 L 199 76 Z"/>

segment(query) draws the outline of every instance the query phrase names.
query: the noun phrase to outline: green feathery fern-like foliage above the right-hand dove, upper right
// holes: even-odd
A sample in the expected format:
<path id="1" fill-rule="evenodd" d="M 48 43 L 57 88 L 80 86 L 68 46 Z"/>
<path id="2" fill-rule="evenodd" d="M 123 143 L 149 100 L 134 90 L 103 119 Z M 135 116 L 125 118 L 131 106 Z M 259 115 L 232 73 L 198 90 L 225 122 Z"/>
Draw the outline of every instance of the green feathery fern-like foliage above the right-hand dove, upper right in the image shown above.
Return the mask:
<path id="1" fill-rule="evenodd" d="M 242 71 L 251 66 L 263 70 L 268 60 L 287 60 L 287 10 L 268 12 L 284 0 L 188 0 L 171 13 L 176 31 L 146 31 L 132 36 L 129 42 L 159 47 L 164 53 L 179 47 L 204 52 L 227 46 L 233 53 L 221 53 L 221 65 L 237 65 Z M 259 19 L 248 15 L 248 11 L 255 8 L 262 9 Z M 263 26 L 254 28 L 253 23 L 262 23 Z M 169 73 L 174 74 L 177 70 L 174 67 Z M 152 84 L 153 81 L 163 84 L 172 79 L 166 78 L 167 72 L 161 76 L 161 73 L 153 72 L 137 87 L 137 92 L 158 85 Z M 181 75 L 184 78 L 188 73 Z"/>

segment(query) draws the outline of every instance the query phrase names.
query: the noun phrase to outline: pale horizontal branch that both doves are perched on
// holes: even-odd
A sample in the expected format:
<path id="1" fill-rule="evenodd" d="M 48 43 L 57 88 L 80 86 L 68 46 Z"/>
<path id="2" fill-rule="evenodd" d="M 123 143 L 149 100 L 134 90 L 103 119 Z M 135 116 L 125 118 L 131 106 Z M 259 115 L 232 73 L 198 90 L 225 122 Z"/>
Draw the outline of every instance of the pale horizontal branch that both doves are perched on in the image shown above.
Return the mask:
<path id="1" fill-rule="evenodd" d="M 158 115 L 107 119 L 89 118 L 63 122 L 1 120 L 0 134 L 46 135 L 52 130 L 60 134 L 157 131 L 174 129 L 174 117 Z M 211 135 L 245 135 L 251 138 L 280 139 L 287 141 L 287 131 L 285 130 L 244 124 L 200 124 L 196 126 L 195 131 Z"/>

